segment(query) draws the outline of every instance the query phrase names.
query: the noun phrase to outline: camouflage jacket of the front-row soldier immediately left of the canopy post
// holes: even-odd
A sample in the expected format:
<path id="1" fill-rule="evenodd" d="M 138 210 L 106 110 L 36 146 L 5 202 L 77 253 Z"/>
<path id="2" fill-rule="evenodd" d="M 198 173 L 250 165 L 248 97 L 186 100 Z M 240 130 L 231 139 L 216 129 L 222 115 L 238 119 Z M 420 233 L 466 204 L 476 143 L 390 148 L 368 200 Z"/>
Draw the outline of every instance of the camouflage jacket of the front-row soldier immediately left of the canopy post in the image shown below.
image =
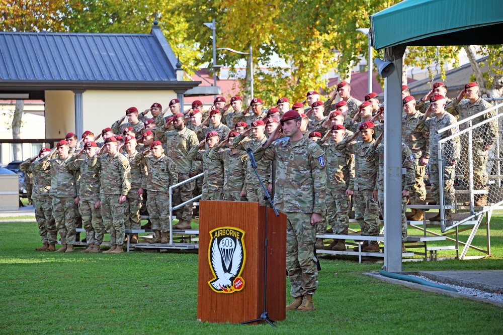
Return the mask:
<path id="1" fill-rule="evenodd" d="M 355 190 L 377 190 L 377 170 L 379 165 L 379 159 L 368 160 L 366 153 L 368 148 L 374 144 L 375 140 L 372 139 L 370 142 L 351 142 L 348 143 L 348 139 L 344 139 L 336 145 L 336 150 L 343 150 L 346 148 L 352 154 L 355 154 Z"/>

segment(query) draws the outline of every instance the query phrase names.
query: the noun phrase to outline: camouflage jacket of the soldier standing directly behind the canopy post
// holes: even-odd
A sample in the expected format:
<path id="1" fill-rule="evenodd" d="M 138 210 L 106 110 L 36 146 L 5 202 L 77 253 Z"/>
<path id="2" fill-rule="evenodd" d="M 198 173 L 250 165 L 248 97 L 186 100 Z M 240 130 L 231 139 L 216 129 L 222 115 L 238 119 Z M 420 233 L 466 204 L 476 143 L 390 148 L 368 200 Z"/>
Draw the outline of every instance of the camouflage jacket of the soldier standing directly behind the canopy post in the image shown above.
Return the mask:
<path id="1" fill-rule="evenodd" d="M 414 156 L 409 147 L 402 142 L 402 190 L 410 190 L 415 183 Z M 368 161 L 379 160 L 379 174 L 377 176 L 377 189 L 384 191 L 384 145 L 374 142 L 365 154 Z M 405 172 L 403 171 L 405 170 Z"/>

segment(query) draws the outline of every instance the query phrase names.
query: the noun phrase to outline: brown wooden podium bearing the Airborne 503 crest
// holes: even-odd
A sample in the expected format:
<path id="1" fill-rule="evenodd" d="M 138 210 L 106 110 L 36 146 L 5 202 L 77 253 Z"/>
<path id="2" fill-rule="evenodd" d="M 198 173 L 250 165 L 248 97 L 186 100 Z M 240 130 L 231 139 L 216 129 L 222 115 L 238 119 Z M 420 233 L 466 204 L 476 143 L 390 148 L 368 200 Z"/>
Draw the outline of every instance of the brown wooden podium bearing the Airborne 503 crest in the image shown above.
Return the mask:
<path id="1" fill-rule="evenodd" d="M 264 310 L 266 206 L 209 200 L 199 206 L 198 320 L 239 323 L 259 318 Z M 267 209 L 266 311 L 279 321 L 286 317 L 286 215 Z M 241 250 L 244 264 L 239 270 Z M 232 281 L 233 286 L 226 286 Z"/>

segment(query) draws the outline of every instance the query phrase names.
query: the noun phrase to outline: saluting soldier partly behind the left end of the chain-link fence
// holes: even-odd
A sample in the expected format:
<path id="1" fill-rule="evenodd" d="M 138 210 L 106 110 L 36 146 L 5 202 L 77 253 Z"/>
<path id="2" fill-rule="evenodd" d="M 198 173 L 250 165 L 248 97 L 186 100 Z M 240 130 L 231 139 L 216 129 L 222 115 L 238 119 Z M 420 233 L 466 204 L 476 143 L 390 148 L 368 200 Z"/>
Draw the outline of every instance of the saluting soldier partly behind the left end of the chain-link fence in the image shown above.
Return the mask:
<path id="1" fill-rule="evenodd" d="M 451 135 L 456 134 L 459 129 L 457 127 L 452 127 L 448 131 L 438 134 L 438 130 L 454 125 L 456 123 L 456 118 L 447 113 L 445 110 L 446 98 L 443 95 L 434 95 L 430 98 L 430 106 L 428 107 L 425 115 L 420 118 L 420 122 L 417 124 L 416 131 L 429 133 L 430 134 L 430 159 L 429 162 L 429 177 L 432 187 L 430 189 L 432 196 L 440 203 L 440 185 L 439 185 L 439 157 L 438 157 L 438 141 L 447 138 Z M 428 119 L 431 112 L 435 116 Z M 459 137 L 451 139 L 444 143 L 444 157 L 443 170 L 441 171 L 444 176 L 444 204 L 453 205 L 454 204 L 454 169 L 459 160 L 460 145 Z M 450 218 L 451 210 L 446 210 L 447 219 Z M 435 217 L 430 218 L 430 221 L 440 221 L 440 212 Z"/>

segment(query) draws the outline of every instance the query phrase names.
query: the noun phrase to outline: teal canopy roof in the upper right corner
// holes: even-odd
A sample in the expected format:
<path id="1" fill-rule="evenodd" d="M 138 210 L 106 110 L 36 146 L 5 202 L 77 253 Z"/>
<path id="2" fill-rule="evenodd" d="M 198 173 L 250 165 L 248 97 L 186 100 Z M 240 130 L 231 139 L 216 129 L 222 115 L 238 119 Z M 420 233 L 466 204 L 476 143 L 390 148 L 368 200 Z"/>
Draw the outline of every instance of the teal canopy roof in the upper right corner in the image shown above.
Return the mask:
<path id="1" fill-rule="evenodd" d="M 370 22 L 375 49 L 503 44 L 503 0 L 405 0 Z"/>

